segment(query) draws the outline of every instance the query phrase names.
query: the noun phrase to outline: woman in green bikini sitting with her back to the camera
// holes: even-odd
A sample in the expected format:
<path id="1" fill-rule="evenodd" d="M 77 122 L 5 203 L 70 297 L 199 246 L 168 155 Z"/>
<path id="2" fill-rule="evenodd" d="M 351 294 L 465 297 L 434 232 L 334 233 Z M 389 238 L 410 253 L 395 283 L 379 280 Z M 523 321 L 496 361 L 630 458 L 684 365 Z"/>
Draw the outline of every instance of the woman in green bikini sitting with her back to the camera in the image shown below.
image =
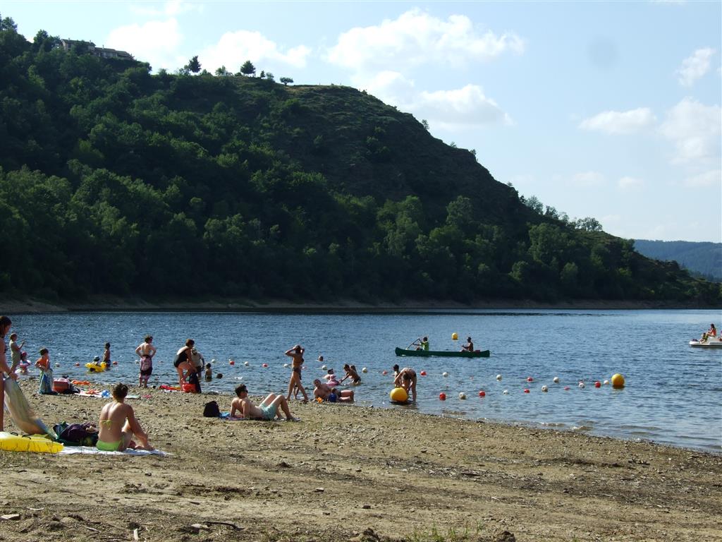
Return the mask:
<path id="1" fill-rule="evenodd" d="M 126 395 L 126 384 L 116 384 L 113 387 L 113 403 L 108 403 L 100 410 L 100 431 L 95 446 L 103 452 L 123 452 L 129 448 L 153 449 L 148 443 L 148 435 L 136 420 L 133 407 L 126 405 Z"/>

